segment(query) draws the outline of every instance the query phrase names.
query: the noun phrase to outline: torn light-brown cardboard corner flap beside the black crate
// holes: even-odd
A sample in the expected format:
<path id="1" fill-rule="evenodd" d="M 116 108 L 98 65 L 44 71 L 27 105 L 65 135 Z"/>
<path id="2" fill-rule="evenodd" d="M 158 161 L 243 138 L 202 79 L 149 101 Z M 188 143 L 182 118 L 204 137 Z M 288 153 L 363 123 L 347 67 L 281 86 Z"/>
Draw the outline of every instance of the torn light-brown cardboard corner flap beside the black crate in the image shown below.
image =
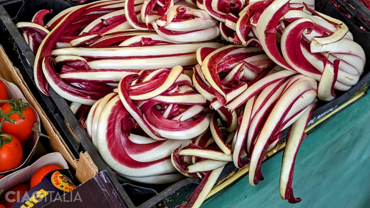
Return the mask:
<path id="1" fill-rule="evenodd" d="M 98 171 L 98 167 L 94 164 L 88 152 L 81 152 L 76 170 L 76 178 L 81 183 L 84 183 L 93 178 Z"/>

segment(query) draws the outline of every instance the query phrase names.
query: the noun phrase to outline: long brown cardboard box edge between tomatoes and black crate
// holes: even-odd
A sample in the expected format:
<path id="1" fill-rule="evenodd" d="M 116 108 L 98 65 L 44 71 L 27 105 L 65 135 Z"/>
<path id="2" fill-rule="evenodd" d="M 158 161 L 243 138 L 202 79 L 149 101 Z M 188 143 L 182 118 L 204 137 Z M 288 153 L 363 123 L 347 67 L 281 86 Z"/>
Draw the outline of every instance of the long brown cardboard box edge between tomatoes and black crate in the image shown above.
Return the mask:
<path id="1" fill-rule="evenodd" d="M 51 121 L 47 118 L 46 113 L 41 108 L 40 104 L 33 97 L 30 89 L 27 87 L 26 82 L 22 78 L 19 70 L 13 66 L 8 56 L 6 55 L 3 47 L 0 46 L 0 73 L 2 76 L 16 84 L 20 90 L 23 92 L 24 97 L 29 101 L 32 107 L 40 115 L 41 122 L 44 125 L 44 128 L 47 134 L 50 136 L 50 146 L 53 151 L 60 152 L 65 160 L 71 165 L 74 170 L 77 170 L 77 163 L 75 158 L 72 155 L 72 152 L 67 148 L 67 145 L 62 140 L 61 135 L 55 129 L 54 125 L 51 124 Z"/>

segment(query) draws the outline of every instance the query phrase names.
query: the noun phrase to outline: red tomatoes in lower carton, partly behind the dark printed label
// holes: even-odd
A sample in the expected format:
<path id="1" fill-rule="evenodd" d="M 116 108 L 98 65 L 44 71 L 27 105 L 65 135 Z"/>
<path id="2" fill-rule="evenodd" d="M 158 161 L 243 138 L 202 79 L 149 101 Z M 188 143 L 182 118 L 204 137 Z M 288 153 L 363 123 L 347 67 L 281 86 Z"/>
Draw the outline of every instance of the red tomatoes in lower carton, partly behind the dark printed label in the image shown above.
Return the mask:
<path id="1" fill-rule="evenodd" d="M 56 166 L 56 165 L 45 165 L 38 169 L 32 176 L 30 184 L 18 184 L 14 187 L 11 187 L 7 192 L 10 192 L 9 194 L 3 193 L 1 194 L 3 196 L 2 204 L 0 204 L 0 208 L 11 208 L 17 201 L 22 199 L 22 197 L 30 191 L 31 188 L 35 187 L 37 184 L 39 184 L 43 178 L 50 173 L 51 171 L 60 170 L 62 168 Z M 19 194 L 18 194 L 19 191 Z M 16 194 L 14 194 L 16 193 Z M 4 197 L 8 195 L 7 197 Z M 15 199 L 15 200 L 14 200 Z"/>

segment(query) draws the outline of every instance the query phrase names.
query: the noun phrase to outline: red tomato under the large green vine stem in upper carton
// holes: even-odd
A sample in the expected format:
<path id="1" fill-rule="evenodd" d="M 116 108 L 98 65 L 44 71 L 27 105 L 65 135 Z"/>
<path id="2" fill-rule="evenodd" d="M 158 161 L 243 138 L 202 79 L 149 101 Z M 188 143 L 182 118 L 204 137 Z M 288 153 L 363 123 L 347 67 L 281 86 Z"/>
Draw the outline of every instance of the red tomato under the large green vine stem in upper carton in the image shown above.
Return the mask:
<path id="1" fill-rule="evenodd" d="M 6 103 L 1 107 L 4 113 L 8 113 L 11 110 L 9 103 Z M 33 124 L 36 123 L 36 115 L 33 109 L 28 106 L 25 110 L 22 110 L 22 113 L 25 117 L 23 120 L 18 114 L 13 113 L 9 116 L 17 121 L 17 124 L 12 124 L 6 121 L 1 129 L 4 134 L 11 134 L 14 135 L 19 139 L 21 143 L 25 142 L 33 133 L 32 127 Z M 0 119 L 1 121 L 1 119 Z"/>

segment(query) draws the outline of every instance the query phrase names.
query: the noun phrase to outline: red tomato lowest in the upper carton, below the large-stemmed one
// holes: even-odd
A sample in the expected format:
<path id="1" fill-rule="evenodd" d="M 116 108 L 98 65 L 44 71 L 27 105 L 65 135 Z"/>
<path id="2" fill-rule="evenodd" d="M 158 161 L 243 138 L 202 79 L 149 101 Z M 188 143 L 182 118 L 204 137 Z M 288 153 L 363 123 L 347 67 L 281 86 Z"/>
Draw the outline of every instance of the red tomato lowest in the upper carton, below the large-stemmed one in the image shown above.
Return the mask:
<path id="1" fill-rule="evenodd" d="M 19 167 L 23 160 L 23 148 L 19 140 L 10 135 L 13 141 L 9 138 L 0 138 L 0 172 L 6 172 Z"/>

